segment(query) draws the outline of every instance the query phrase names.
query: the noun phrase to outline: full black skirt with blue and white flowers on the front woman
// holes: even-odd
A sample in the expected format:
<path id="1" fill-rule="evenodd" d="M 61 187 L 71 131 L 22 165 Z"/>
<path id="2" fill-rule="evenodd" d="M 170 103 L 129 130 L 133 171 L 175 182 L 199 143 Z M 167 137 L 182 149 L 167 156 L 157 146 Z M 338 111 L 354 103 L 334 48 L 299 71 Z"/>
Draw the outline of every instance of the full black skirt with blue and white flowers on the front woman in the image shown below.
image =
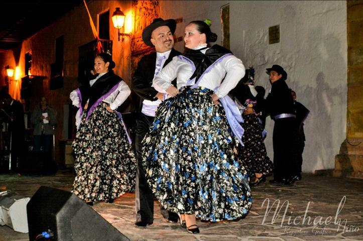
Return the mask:
<path id="1" fill-rule="evenodd" d="M 202 220 L 246 216 L 247 171 L 234 157 L 224 109 L 207 88 L 185 88 L 160 104 L 143 140 L 146 176 L 160 204 Z"/>

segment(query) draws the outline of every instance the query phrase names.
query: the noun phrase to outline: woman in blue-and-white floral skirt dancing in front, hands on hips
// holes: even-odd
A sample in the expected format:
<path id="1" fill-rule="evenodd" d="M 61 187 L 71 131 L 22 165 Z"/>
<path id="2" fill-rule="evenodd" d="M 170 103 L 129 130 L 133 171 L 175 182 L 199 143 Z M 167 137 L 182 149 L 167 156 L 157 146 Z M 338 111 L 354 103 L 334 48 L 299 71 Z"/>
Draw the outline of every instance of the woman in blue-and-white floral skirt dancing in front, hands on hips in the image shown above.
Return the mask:
<path id="1" fill-rule="evenodd" d="M 203 21 L 187 25 L 188 50 L 153 80 L 157 91 L 172 97 L 159 106 L 143 141 L 150 187 L 161 205 L 180 214 L 190 233 L 199 233 L 196 215 L 235 220 L 246 216 L 252 204 L 249 178 L 235 161 L 218 101 L 237 84 L 245 67 L 229 50 L 207 46 L 216 38 Z M 177 88 L 171 84 L 175 78 Z"/>

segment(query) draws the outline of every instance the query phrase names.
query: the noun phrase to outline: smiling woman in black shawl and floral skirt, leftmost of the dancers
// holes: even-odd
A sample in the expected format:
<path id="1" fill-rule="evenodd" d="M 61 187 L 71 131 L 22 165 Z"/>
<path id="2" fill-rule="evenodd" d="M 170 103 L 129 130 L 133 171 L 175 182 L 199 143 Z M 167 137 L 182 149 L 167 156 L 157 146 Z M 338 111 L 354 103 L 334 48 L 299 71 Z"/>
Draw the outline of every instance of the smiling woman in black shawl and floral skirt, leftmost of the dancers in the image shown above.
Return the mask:
<path id="1" fill-rule="evenodd" d="M 70 94 L 82 121 L 72 144 L 76 156 L 73 193 L 93 205 L 112 202 L 135 190 L 136 159 L 121 115 L 115 109 L 130 95 L 124 80 L 115 75 L 107 53 L 94 59 L 97 77 Z"/>

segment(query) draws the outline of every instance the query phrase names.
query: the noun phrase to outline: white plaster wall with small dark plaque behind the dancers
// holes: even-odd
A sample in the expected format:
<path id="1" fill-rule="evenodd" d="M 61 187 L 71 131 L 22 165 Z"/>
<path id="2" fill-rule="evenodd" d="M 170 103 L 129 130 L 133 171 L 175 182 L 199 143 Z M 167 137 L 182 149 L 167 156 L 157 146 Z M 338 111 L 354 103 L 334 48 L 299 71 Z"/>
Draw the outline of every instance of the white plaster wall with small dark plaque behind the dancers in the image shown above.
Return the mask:
<path id="1" fill-rule="evenodd" d="M 221 36 L 220 7 L 230 4 L 230 49 L 254 66 L 256 84 L 270 89 L 265 69 L 288 73 L 288 85 L 311 113 L 305 122 L 303 172 L 333 169 L 346 137 L 347 39 L 345 1 L 161 1 L 161 17 L 180 18 L 176 35 L 192 20 L 211 19 Z M 280 43 L 269 45 L 268 29 L 280 25 Z M 221 39 L 217 40 L 218 44 Z M 183 51 L 183 44 L 176 49 Z M 266 94 L 267 94 L 266 93 Z M 273 159 L 273 122 L 265 141 Z"/>

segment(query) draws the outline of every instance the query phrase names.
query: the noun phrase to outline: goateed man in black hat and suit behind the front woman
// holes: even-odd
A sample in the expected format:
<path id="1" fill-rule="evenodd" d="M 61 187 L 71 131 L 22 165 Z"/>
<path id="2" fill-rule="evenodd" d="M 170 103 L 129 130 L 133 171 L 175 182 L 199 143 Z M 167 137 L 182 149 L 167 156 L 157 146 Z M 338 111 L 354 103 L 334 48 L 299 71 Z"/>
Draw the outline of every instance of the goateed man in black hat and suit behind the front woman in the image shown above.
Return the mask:
<path id="1" fill-rule="evenodd" d="M 136 119 L 136 157 L 138 169 L 136 176 L 136 226 L 146 227 L 154 222 L 154 194 L 145 178 L 142 165 L 142 141 L 154 121 L 158 105 L 164 94 L 156 91 L 151 85 L 154 75 L 166 66 L 174 56 L 181 53 L 174 50 L 173 34 L 176 22 L 173 19 L 155 19 L 143 31 L 142 38 L 146 45 L 155 47 L 156 52 L 141 58 L 132 79 L 132 89 L 140 96 L 140 106 Z M 161 213 L 168 222 L 177 222 L 178 215 L 160 207 Z"/>

